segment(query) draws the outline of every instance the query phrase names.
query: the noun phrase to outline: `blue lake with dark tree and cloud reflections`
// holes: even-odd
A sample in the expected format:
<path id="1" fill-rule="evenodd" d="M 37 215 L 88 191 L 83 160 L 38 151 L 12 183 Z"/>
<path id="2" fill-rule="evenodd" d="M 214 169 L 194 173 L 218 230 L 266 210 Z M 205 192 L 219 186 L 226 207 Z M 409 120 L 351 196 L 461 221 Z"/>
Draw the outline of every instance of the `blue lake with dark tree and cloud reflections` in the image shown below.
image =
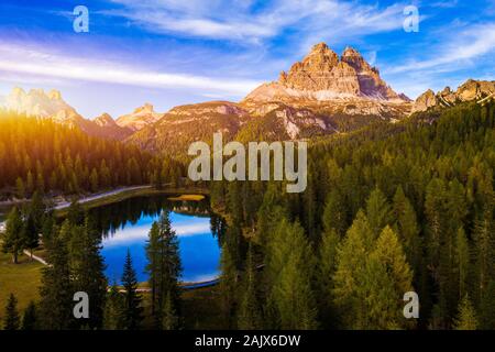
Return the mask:
<path id="1" fill-rule="evenodd" d="M 209 212 L 206 201 L 168 201 L 167 196 L 135 197 L 90 210 L 90 216 L 101 227 L 101 254 L 110 283 L 120 283 L 128 249 L 139 282 L 147 280 L 145 245 L 153 222 L 165 210 L 170 211 L 169 219 L 179 242 L 182 280 L 205 282 L 219 275 L 221 220 Z"/>

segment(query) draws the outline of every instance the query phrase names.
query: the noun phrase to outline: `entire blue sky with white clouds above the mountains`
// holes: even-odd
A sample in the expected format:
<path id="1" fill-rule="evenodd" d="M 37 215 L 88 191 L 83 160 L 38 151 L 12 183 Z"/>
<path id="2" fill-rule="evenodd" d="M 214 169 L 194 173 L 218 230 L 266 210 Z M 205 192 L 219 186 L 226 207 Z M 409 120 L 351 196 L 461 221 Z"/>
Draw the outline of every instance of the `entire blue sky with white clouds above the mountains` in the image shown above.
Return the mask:
<path id="1" fill-rule="evenodd" d="M 417 33 L 403 28 L 411 4 Z M 76 6 L 88 33 L 73 29 Z M 56 88 L 87 118 L 238 101 L 321 41 L 355 47 L 411 98 L 493 80 L 495 0 L 2 0 L 0 101 L 14 86 Z"/>

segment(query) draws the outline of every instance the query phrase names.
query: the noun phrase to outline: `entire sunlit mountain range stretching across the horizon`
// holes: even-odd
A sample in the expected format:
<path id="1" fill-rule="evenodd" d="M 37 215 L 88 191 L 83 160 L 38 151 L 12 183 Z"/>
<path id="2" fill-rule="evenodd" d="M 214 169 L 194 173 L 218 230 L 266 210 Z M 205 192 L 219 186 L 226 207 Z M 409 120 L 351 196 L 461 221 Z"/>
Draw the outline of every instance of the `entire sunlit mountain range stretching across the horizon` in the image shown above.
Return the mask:
<path id="1" fill-rule="evenodd" d="M 65 102 L 57 90 L 14 88 L 4 108 L 79 128 L 95 136 L 134 143 L 153 152 L 185 154 L 194 141 L 296 140 L 349 132 L 376 120 L 395 122 L 411 112 L 494 97 L 495 81 L 468 80 L 457 91 L 426 91 L 416 101 L 394 91 L 361 54 L 346 47 L 339 57 L 324 43 L 282 72 L 277 81 L 254 89 L 240 102 L 210 101 L 175 107 L 166 113 L 145 103 L 112 119 L 89 120 Z"/>

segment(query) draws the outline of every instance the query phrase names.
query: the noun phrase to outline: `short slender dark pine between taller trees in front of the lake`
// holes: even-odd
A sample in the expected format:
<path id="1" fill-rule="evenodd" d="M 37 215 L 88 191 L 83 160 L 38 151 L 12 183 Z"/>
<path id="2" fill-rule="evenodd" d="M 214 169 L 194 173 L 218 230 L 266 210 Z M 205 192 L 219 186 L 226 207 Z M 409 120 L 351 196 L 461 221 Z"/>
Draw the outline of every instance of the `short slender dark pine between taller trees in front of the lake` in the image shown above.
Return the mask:
<path id="1" fill-rule="evenodd" d="M 124 287 L 124 309 L 122 311 L 121 322 L 125 330 L 139 329 L 143 320 L 141 307 L 141 295 L 138 294 L 138 278 L 132 267 L 131 252 L 128 250 L 125 256 L 124 270 L 122 274 L 122 285 Z"/>

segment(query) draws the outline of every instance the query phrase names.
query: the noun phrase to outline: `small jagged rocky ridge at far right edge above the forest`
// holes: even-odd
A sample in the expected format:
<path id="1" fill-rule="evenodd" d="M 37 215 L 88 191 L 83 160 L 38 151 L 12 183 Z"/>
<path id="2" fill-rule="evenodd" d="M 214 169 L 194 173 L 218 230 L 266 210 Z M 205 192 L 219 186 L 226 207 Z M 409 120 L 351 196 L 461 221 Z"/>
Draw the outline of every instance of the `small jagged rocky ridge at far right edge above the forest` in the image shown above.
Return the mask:
<path id="1" fill-rule="evenodd" d="M 426 111 L 433 107 L 451 107 L 463 101 L 479 101 L 495 97 L 495 81 L 469 79 L 461 85 L 455 91 L 450 87 L 435 94 L 428 89 L 416 99 L 413 112 Z"/>

